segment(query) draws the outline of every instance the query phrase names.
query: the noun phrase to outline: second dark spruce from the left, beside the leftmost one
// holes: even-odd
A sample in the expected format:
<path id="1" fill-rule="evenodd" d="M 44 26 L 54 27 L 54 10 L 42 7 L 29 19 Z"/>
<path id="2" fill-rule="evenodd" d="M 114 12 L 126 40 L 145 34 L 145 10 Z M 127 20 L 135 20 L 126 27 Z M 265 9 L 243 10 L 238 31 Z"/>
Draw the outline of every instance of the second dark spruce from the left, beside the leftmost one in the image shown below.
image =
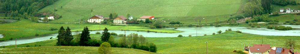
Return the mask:
<path id="1" fill-rule="evenodd" d="M 69 27 L 67 27 L 67 29 L 65 31 L 65 36 L 66 36 L 66 38 L 65 38 L 65 41 L 66 41 L 65 45 L 69 45 L 70 42 L 71 42 L 71 40 L 74 39 L 73 35 L 72 35 L 72 31 L 71 31 L 71 29 Z"/>

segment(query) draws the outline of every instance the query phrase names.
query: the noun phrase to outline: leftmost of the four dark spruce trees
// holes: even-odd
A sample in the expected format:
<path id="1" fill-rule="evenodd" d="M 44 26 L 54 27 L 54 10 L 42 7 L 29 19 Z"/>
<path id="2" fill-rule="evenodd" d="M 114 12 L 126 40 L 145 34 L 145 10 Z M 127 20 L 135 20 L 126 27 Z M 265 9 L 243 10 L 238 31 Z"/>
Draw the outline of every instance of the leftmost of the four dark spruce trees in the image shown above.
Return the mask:
<path id="1" fill-rule="evenodd" d="M 58 30 L 58 35 L 57 35 L 57 42 L 56 45 L 57 46 L 62 46 L 63 44 L 63 37 L 65 36 L 65 29 L 64 27 L 60 27 L 60 29 Z"/>

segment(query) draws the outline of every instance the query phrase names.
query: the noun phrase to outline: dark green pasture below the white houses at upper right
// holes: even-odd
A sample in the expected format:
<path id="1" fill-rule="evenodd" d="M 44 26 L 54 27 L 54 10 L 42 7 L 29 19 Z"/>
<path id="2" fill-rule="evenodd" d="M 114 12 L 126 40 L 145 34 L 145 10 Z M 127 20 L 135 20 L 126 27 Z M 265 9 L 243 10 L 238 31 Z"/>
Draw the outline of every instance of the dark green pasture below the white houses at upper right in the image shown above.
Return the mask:
<path id="1" fill-rule="evenodd" d="M 279 22 L 286 22 L 286 21 L 293 21 L 294 19 L 300 19 L 300 15 L 280 14 L 280 16 L 270 16 L 270 18 L 274 20 L 278 19 Z"/>

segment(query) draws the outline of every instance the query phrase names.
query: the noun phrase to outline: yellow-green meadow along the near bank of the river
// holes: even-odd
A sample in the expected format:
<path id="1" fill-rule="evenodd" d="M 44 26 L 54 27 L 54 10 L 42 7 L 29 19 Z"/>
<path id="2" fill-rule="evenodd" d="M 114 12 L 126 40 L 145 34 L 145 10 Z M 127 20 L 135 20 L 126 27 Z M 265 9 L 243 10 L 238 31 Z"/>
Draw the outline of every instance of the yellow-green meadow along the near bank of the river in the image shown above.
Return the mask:
<path id="1" fill-rule="evenodd" d="M 91 34 L 91 36 L 95 39 L 96 37 L 100 37 L 101 35 Z M 263 38 L 263 43 L 262 43 Z M 204 42 L 208 42 L 208 53 L 210 54 L 235 54 L 234 50 L 244 50 L 245 46 L 253 46 L 253 44 L 270 44 L 271 47 L 285 47 L 284 42 L 288 39 L 292 39 L 296 41 L 296 46 L 294 46 L 295 51 L 300 51 L 300 40 L 299 36 L 261 36 L 261 35 L 253 35 L 246 33 L 235 33 L 232 31 L 226 31 L 221 34 L 208 35 L 208 36 L 192 36 L 192 37 L 161 37 L 161 38 L 146 38 L 147 41 L 153 42 L 157 46 L 157 53 L 166 53 L 166 54 L 205 54 L 206 53 L 206 44 Z M 116 38 L 117 39 L 117 38 Z M 27 43 L 17 45 L 19 48 L 14 48 L 14 45 L 5 46 L 8 48 L 0 49 L 4 50 L 3 53 L 11 53 L 16 50 L 27 50 L 26 52 L 38 53 L 40 50 L 34 50 L 32 48 L 44 49 L 44 48 L 56 48 L 49 49 L 50 51 L 56 50 L 55 52 L 67 53 L 68 51 L 59 51 L 58 49 L 77 49 L 84 53 L 94 52 L 95 49 L 86 49 L 87 47 L 74 47 L 74 48 L 65 48 L 68 46 L 53 46 L 56 43 L 56 39 L 50 39 L 40 42 Z M 43 44 L 45 43 L 45 44 Z M 34 46 L 34 44 L 41 44 L 42 47 L 25 47 L 26 45 Z M 46 45 L 47 44 L 47 45 Z M 113 48 L 114 49 L 114 48 Z M 123 48 L 122 48 L 123 49 Z M 122 49 L 114 49 L 113 51 L 126 51 Z M 70 50 L 72 51 L 72 50 Z M 19 51 L 18 51 L 19 52 Z M 55 53 L 50 52 L 50 53 Z M 79 53 L 82 53 L 79 52 Z M 143 53 L 140 51 L 135 51 L 136 53 Z M 0 51 L 1 53 L 1 51 Z M 119 53 L 119 52 L 117 52 Z M 152 53 L 147 53 L 152 54 Z M 237 53 L 236 53 L 237 54 Z"/>

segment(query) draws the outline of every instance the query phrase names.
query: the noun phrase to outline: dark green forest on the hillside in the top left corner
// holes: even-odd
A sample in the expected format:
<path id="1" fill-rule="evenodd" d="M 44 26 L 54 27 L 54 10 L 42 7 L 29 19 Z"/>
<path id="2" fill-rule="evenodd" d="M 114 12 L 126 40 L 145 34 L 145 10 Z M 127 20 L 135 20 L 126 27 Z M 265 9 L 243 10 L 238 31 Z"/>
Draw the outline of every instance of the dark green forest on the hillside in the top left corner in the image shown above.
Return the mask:
<path id="1" fill-rule="evenodd" d="M 0 13 L 18 12 L 30 16 L 37 14 L 38 10 L 53 4 L 58 0 L 0 0 Z"/>

